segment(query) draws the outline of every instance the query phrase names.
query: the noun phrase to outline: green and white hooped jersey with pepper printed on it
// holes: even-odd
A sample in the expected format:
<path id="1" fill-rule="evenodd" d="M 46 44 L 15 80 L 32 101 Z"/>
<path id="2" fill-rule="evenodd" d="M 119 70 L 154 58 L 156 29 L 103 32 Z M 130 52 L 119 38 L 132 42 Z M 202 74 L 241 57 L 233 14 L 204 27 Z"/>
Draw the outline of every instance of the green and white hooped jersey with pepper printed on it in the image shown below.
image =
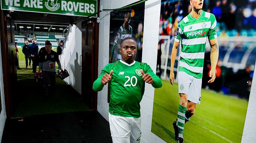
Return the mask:
<path id="1" fill-rule="evenodd" d="M 190 12 L 180 21 L 175 35 L 175 41 L 181 41 L 179 71 L 202 78 L 207 37 L 209 40 L 217 38 L 216 19 L 212 13 L 202 10 L 199 18 L 194 19 Z"/>

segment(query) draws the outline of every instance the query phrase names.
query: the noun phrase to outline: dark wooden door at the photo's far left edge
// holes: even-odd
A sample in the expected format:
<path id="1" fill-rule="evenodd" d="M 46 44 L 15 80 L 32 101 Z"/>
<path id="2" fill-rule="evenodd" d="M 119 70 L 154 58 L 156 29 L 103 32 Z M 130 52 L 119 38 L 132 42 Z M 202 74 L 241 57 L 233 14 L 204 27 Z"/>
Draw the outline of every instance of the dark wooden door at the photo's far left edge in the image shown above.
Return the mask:
<path id="1" fill-rule="evenodd" d="M 14 21 L 8 11 L 1 11 L 1 52 L 3 65 L 3 79 L 5 89 L 5 107 L 7 118 L 15 111 L 15 86 L 17 81 Z"/>

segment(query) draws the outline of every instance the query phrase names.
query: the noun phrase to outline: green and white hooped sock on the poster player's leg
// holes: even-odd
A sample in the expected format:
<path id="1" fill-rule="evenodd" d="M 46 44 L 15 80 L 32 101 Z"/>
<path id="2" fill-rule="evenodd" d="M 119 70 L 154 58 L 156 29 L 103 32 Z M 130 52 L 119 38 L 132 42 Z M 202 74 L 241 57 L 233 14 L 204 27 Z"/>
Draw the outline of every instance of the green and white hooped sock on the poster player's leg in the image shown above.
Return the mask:
<path id="1" fill-rule="evenodd" d="M 177 126 L 178 126 L 178 130 L 179 130 L 179 138 L 183 138 L 183 130 L 184 130 L 184 126 L 185 126 L 185 112 L 186 112 L 186 107 L 179 105 L 178 121 L 177 121 Z"/>

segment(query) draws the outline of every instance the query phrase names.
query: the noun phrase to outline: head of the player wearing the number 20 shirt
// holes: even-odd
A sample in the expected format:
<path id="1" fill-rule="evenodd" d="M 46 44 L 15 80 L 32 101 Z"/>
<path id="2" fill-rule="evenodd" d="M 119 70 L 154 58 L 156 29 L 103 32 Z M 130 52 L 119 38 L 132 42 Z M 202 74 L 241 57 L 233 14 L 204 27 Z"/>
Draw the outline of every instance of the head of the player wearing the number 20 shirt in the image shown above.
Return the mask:
<path id="1" fill-rule="evenodd" d="M 133 62 L 137 52 L 137 44 L 132 39 L 127 39 L 121 44 L 120 53 L 122 60 L 128 62 Z"/>

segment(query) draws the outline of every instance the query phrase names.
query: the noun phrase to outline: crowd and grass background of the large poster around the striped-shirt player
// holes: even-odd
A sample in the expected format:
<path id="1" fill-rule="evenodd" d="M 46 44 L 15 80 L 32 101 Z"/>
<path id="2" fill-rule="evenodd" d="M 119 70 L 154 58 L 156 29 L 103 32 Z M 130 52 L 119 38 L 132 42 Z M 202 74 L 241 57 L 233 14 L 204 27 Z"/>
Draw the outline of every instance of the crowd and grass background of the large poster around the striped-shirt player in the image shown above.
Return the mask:
<path id="1" fill-rule="evenodd" d="M 201 103 L 185 123 L 184 142 L 241 142 L 256 58 L 256 2 L 204 0 L 203 10 L 216 18 L 219 60 L 216 79 L 208 83 L 211 47 L 206 40 Z M 174 65 L 175 83 L 169 82 L 172 47 L 179 22 L 192 9 L 190 1 L 162 0 L 157 70 L 163 86 L 155 89 L 151 131 L 166 142 L 177 142 L 173 122 L 178 117 L 178 70 L 181 45 Z M 189 93 L 188 93 L 189 94 Z"/>

